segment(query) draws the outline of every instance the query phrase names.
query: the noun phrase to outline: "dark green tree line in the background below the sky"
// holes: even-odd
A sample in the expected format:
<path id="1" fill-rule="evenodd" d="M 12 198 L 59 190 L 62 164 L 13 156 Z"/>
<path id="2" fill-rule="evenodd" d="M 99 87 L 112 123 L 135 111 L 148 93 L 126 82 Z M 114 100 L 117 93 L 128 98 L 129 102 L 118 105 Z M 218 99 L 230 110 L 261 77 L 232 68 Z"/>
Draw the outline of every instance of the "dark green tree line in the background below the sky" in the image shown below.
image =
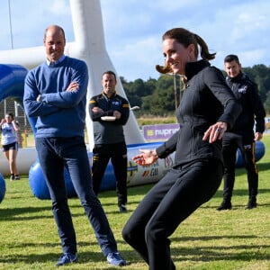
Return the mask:
<path id="1" fill-rule="evenodd" d="M 242 67 L 242 71 L 257 84 L 266 113 L 269 114 L 270 67 L 260 64 L 253 67 Z M 226 76 L 224 70 L 222 73 Z M 161 75 L 157 79 L 149 78 L 147 81 L 138 78 L 133 82 L 127 82 L 123 76 L 120 79 L 130 106 L 140 107 L 140 110 L 136 112 L 138 116 L 167 116 L 175 113 L 175 108 L 184 91 L 181 76 L 178 75 Z"/>

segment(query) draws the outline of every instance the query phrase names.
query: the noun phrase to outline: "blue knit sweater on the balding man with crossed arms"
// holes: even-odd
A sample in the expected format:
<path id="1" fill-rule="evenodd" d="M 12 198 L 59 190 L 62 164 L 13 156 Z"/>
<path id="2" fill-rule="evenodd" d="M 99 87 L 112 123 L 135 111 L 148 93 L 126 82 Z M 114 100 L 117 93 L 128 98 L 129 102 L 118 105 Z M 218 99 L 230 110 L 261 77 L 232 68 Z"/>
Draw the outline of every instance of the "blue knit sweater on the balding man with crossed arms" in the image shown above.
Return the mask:
<path id="1" fill-rule="evenodd" d="M 79 84 L 75 92 L 66 91 L 71 82 Z M 87 66 L 76 58 L 54 67 L 44 62 L 27 74 L 23 104 L 29 117 L 38 117 L 37 138 L 84 136 L 87 84 Z"/>

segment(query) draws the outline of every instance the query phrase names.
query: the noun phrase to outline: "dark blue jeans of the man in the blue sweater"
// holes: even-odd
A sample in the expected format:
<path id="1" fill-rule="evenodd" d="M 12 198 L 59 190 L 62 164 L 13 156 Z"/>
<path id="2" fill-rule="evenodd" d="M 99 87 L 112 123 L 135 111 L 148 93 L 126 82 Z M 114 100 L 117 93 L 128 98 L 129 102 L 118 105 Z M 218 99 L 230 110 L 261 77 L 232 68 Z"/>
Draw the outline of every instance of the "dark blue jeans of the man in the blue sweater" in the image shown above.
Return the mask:
<path id="1" fill-rule="evenodd" d="M 83 137 L 36 138 L 40 166 L 49 187 L 52 211 L 58 226 L 63 252 L 76 253 L 76 233 L 67 205 L 64 166 L 85 214 L 91 222 L 103 255 L 116 251 L 116 242 L 103 207 L 94 194 L 91 171 Z"/>

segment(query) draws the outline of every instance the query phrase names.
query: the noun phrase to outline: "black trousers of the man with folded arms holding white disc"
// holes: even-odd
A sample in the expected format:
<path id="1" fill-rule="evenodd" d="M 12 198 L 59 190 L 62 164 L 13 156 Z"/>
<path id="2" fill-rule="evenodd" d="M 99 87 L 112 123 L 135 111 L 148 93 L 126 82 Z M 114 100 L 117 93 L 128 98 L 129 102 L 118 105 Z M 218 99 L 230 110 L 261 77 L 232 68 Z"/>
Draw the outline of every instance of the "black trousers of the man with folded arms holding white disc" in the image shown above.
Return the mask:
<path id="1" fill-rule="evenodd" d="M 125 204 L 127 198 L 127 146 L 125 142 L 96 144 L 93 148 L 92 181 L 94 193 L 99 192 L 106 167 L 111 158 L 116 178 L 118 205 Z"/>

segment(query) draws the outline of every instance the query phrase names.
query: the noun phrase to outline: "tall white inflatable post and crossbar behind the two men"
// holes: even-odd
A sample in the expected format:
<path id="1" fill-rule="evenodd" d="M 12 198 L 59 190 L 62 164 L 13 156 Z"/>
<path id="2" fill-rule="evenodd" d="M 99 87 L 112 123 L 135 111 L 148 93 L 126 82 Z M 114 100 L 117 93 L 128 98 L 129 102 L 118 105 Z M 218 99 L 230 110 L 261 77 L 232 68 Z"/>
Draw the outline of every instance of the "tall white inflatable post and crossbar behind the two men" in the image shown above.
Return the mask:
<path id="1" fill-rule="evenodd" d="M 117 75 L 118 94 L 126 96 L 117 71 L 106 50 L 103 18 L 99 0 L 70 0 L 70 10 L 74 29 L 74 42 L 67 42 L 65 54 L 73 58 L 85 60 L 89 68 L 89 84 L 87 98 L 101 92 L 101 77 L 104 71 L 111 69 Z M 40 43 L 42 36 L 40 35 Z M 45 59 L 43 46 L 27 49 L 12 49 L 0 51 L 1 64 L 22 65 L 31 69 L 40 65 Z M 93 122 L 86 110 L 86 129 L 89 148 L 94 146 Z M 124 127 L 127 144 L 143 143 L 144 139 L 139 131 L 136 118 L 130 112 L 130 119 Z"/>

